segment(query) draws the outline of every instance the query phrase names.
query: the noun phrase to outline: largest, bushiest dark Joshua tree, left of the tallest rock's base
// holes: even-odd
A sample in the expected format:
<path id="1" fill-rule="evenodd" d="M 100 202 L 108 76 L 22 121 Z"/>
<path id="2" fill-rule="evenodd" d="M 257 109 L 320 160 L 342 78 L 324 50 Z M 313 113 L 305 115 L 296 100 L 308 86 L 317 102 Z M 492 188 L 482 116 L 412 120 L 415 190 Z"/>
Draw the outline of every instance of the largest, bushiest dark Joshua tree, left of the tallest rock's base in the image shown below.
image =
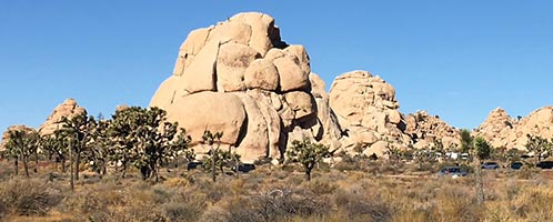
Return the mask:
<path id="1" fill-rule="evenodd" d="M 177 132 L 178 123 L 167 122 L 167 112 L 162 109 L 120 109 L 109 127 L 109 135 L 115 145 L 111 157 L 121 162 L 123 176 L 127 165 L 132 163 L 140 170 L 143 180 L 155 176 L 158 182 L 159 168 L 187 150 L 190 143 L 190 138 L 184 137 L 184 129 L 173 142 Z"/>

